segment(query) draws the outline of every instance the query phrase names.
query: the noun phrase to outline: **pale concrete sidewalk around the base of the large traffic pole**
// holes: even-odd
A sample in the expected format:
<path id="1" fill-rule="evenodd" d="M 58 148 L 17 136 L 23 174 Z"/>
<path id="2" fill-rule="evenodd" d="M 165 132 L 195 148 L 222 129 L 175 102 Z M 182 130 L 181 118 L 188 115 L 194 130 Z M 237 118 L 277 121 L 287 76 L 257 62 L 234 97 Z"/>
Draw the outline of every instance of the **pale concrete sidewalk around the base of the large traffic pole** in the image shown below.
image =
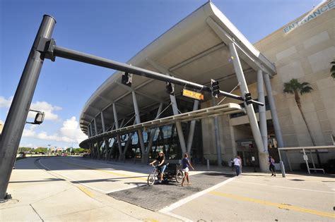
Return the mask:
<path id="1" fill-rule="evenodd" d="M 16 163 L 8 185 L 13 199 L 0 204 L 0 221 L 176 221 L 52 176 L 34 161 Z"/>

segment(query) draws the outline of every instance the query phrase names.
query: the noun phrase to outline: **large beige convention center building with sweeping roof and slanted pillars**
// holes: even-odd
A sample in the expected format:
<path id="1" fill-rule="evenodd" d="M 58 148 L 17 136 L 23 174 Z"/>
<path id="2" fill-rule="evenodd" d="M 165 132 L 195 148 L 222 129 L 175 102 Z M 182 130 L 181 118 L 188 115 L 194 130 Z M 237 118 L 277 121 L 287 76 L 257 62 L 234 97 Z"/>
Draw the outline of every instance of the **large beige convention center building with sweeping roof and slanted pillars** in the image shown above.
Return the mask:
<path id="1" fill-rule="evenodd" d="M 293 147 L 281 152 L 290 170 L 307 158 L 327 164 L 335 159 L 328 149 L 335 135 L 334 8 L 325 1 L 252 44 L 207 2 L 127 64 L 208 87 L 216 80 L 220 90 L 250 92 L 265 106 L 116 71 L 83 107 L 88 139 L 80 146 L 94 159 L 143 163 L 160 151 L 171 161 L 188 152 L 194 164 L 223 166 L 239 155 L 243 166 L 262 171 L 269 155 L 278 163 L 278 148 Z"/>

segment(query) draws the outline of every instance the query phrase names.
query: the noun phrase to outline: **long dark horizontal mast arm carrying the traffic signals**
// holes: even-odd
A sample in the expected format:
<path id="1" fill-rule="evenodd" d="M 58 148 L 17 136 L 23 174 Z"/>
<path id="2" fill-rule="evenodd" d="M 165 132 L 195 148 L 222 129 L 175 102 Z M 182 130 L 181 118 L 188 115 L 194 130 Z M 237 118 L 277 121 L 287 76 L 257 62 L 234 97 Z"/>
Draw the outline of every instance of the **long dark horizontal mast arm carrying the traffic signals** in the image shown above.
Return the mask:
<path id="1" fill-rule="evenodd" d="M 206 85 L 201 85 L 201 84 L 197 84 L 195 82 L 189 82 L 187 80 L 182 80 L 180 78 L 175 78 L 172 77 L 170 75 L 164 75 L 161 73 L 156 73 L 153 72 L 151 70 L 146 70 L 144 68 L 139 68 L 136 66 L 130 66 L 126 63 L 119 63 L 117 61 L 112 61 L 110 59 L 107 58 L 101 58 L 98 56 L 93 56 L 90 54 L 85 54 L 83 52 L 80 51 L 74 51 L 72 49 L 66 49 L 64 47 L 58 47 L 56 45 L 56 42 L 54 41 L 54 39 L 49 39 L 49 41 L 46 41 L 47 45 L 46 47 L 44 47 L 45 49 L 45 53 L 46 58 L 51 59 L 52 61 L 54 61 L 55 56 L 61 57 L 61 58 L 68 58 L 74 61 L 80 61 L 83 63 L 89 63 L 95 66 L 102 66 L 105 68 L 111 68 L 114 70 L 119 70 L 119 71 L 123 71 L 126 73 L 132 73 L 134 75 L 141 75 L 141 76 L 145 76 L 147 78 L 152 78 L 155 80 L 160 80 L 160 81 L 164 81 L 164 82 L 171 82 L 174 83 L 175 85 L 181 85 L 183 87 L 190 87 L 194 90 L 200 90 L 200 91 L 204 91 L 204 92 L 209 92 L 211 93 L 211 87 L 208 87 Z M 237 99 L 240 101 L 245 101 L 245 99 L 243 97 L 240 97 L 238 95 L 235 94 L 231 94 L 228 92 L 224 92 L 224 91 L 219 91 L 220 95 L 223 95 L 225 97 L 230 97 L 232 99 Z M 252 100 L 252 103 L 254 104 L 259 104 L 261 106 L 264 106 L 264 104 L 260 103 L 259 101 L 254 101 Z"/>

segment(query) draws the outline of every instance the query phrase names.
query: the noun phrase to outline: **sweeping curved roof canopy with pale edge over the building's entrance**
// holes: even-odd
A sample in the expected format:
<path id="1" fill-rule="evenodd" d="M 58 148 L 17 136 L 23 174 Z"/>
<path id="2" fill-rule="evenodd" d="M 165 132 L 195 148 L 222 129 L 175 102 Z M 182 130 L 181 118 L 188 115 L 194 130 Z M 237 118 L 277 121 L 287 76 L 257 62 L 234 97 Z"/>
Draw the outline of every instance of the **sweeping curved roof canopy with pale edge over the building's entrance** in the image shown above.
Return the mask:
<path id="1" fill-rule="evenodd" d="M 231 41 L 237 45 L 248 84 L 257 81 L 259 69 L 276 75 L 274 64 L 255 49 L 211 2 L 167 30 L 127 63 L 202 85 L 209 85 L 211 78 L 224 81 L 221 90 L 229 92 L 237 85 L 228 49 Z M 133 76 L 131 87 L 127 87 L 122 85 L 121 76 L 122 72 L 115 72 L 86 102 L 80 118 L 81 129 L 86 134 L 88 125 L 101 111 L 104 111 L 106 128 L 114 123 L 113 103 L 117 105 L 119 118 L 131 116 L 134 113 L 131 91 L 137 94 L 140 111 L 151 111 L 160 102 L 168 104 L 164 82 Z M 178 91 L 180 88 L 176 87 L 175 92 Z M 101 119 L 96 120 L 98 128 L 102 128 Z"/>

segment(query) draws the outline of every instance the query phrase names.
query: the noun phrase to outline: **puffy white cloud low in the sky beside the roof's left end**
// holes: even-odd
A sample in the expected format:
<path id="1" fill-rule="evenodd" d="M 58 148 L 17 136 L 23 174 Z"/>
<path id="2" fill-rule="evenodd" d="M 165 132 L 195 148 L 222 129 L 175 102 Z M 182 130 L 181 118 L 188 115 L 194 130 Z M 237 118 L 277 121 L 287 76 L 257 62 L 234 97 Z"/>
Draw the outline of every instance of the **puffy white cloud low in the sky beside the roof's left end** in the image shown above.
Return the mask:
<path id="1" fill-rule="evenodd" d="M 76 142 L 79 143 L 87 139 L 87 136 L 79 128 L 79 123 L 76 117 L 72 116 L 63 122 L 63 126 L 59 132 L 54 135 L 48 135 L 47 132 L 36 132 L 36 125 L 31 125 L 30 128 L 23 130 L 23 137 L 33 137 L 40 140 L 51 140 L 61 142 Z"/>

